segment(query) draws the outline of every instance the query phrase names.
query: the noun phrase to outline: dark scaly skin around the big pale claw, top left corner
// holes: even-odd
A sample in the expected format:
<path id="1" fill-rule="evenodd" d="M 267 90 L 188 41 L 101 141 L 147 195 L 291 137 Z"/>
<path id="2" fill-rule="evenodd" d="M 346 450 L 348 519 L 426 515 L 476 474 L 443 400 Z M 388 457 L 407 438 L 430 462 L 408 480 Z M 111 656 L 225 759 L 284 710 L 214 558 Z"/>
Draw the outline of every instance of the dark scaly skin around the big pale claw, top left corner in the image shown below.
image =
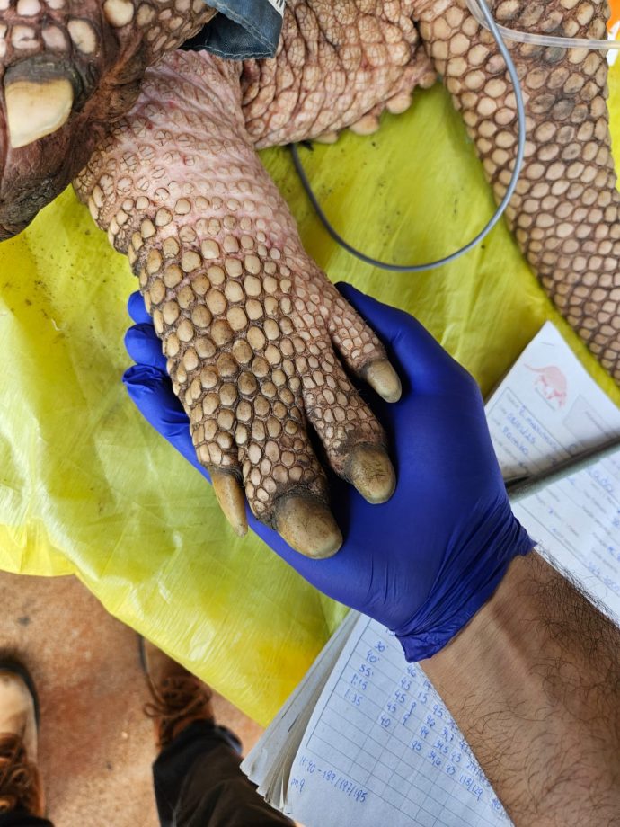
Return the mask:
<path id="1" fill-rule="evenodd" d="M 66 124 L 26 147 L 0 94 L 0 240 L 19 233 L 136 102 L 146 67 L 213 17 L 203 0 L 0 0 L 0 84 L 69 81 Z"/>

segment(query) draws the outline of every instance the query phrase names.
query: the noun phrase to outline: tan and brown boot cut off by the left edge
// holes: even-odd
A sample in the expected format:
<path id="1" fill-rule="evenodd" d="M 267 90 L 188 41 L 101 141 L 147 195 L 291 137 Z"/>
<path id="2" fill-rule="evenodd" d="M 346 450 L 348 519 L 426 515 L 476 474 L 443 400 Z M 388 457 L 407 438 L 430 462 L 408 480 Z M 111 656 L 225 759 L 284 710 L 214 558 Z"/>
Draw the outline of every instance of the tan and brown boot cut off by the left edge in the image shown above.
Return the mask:
<path id="1" fill-rule="evenodd" d="M 45 814 L 37 725 L 37 695 L 29 672 L 13 658 L 0 658 L 0 814 Z"/>

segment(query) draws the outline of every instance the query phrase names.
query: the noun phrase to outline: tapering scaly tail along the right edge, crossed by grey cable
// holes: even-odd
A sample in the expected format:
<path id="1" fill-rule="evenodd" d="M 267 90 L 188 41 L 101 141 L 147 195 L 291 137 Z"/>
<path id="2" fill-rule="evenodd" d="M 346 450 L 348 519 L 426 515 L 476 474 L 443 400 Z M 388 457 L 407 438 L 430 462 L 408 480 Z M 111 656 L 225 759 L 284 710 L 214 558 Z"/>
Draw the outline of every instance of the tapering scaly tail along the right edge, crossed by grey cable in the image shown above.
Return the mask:
<path id="1" fill-rule="evenodd" d="M 607 4 L 585 0 L 490 3 L 521 31 L 605 38 Z M 464 0 L 420 4 L 420 31 L 475 140 L 496 196 L 506 191 L 517 120 L 492 35 Z M 607 115 L 607 61 L 587 49 L 509 46 L 527 111 L 527 149 L 508 210 L 521 249 L 546 291 L 620 380 L 620 223 Z"/>

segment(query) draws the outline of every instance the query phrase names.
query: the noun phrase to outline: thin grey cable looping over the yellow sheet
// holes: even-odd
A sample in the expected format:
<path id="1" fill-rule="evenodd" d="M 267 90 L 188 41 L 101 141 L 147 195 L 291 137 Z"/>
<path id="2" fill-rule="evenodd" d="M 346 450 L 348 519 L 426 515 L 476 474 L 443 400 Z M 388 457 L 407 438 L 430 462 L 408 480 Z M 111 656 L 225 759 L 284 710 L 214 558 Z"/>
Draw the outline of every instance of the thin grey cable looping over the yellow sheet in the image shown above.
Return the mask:
<path id="1" fill-rule="evenodd" d="M 297 144 L 289 144 L 288 148 L 290 150 L 290 154 L 293 158 L 293 164 L 295 165 L 295 169 L 297 170 L 297 175 L 299 176 L 299 180 L 306 191 L 306 195 L 312 204 L 316 215 L 320 218 L 323 227 L 327 230 L 330 236 L 332 236 L 333 240 L 336 244 L 341 245 L 348 253 L 354 255 L 356 258 L 359 258 L 362 262 L 366 262 L 367 264 L 371 264 L 373 267 L 380 267 L 382 270 L 388 270 L 392 272 L 422 272 L 426 270 L 433 270 L 435 267 L 441 267 L 444 264 L 449 262 L 454 262 L 457 258 L 460 258 L 461 255 L 468 253 L 475 245 L 480 244 L 492 230 L 493 227 L 497 224 L 500 220 L 501 216 L 504 213 L 504 210 L 507 208 L 509 204 L 509 200 L 512 198 L 512 195 L 515 191 L 518 182 L 518 176 L 521 173 L 521 166 L 523 165 L 523 155 L 526 146 L 526 114 L 525 114 L 525 107 L 523 105 L 523 95 L 521 94 L 521 86 L 518 82 L 517 76 L 517 69 L 515 68 L 514 63 L 512 62 L 512 58 L 510 57 L 509 50 L 504 43 L 504 40 L 501 37 L 500 31 L 493 20 L 492 13 L 489 11 L 489 7 L 487 6 L 485 0 L 477 0 L 478 5 L 480 7 L 480 11 L 483 14 L 483 17 L 489 27 L 489 30 L 492 33 L 495 42 L 497 43 L 498 49 L 500 49 L 501 57 L 504 58 L 506 63 L 506 68 L 508 69 L 510 80 L 512 82 L 512 87 L 515 93 L 515 100 L 517 102 L 517 119 L 518 119 L 518 147 L 517 147 L 517 157 L 515 159 L 515 166 L 512 172 L 512 177 L 510 178 L 510 183 L 506 194 L 500 201 L 500 206 L 495 210 L 491 220 L 486 224 L 485 227 L 475 236 L 468 244 L 464 247 L 461 247 L 460 250 L 456 250 L 456 253 L 450 253 L 449 255 L 445 256 L 444 258 L 438 259 L 437 262 L 430 262 L 428 264 L 390 264 L 388 262 L 380 262 L 376 259 L 372 258 L 371 256 L 367 255 L 366 253 L 362 253 L 359 250 L 356 250 L 355 247 L 351 246 L 348 241 L 345 241 L 344 238 L 332 227 L 329 219 L 323 212 L 323 208 L 319 204 L 316 196 L 314 195 L 314 191 L 308 181 L 306 171 L 299 159 L 299 154 L 297 152 Z"/>

